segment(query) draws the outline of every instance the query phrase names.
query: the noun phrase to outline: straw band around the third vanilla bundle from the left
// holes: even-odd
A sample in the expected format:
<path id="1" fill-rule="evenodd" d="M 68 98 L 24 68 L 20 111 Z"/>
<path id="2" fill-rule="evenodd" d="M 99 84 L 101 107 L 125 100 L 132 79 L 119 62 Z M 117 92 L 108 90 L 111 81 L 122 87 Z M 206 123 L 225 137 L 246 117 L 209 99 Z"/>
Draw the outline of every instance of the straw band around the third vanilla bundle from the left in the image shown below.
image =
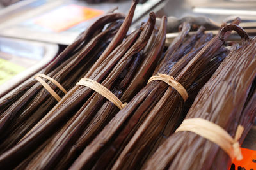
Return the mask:
<path id="1" fill-rule="evenodd" d="M 178 81 L 174 80 L 172 76 L 158 73 L 156 76 L 150 77 L 148 83 L 154 80 L 164 81 L 165 83 L 173 87 L 175 90 L 177 90 L 184 101 L 188 99 L 188 93 L 186 89 Z"/>

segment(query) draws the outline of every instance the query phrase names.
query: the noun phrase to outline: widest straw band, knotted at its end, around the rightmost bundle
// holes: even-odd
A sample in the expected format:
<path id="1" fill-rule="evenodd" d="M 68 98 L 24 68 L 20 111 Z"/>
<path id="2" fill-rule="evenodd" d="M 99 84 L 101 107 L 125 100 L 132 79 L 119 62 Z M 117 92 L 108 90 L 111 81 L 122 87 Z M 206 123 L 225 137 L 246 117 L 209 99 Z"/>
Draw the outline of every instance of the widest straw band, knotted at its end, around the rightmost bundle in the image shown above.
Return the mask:
<path id="1" fill-rule="evenodd" d="M 179 131 L 194 132 L 195 134 L 216 143 L 230 156 L 232 160 L 234 158 L 236 158 L 236 160 L 243 159 L 238 142 L 244 131 L 244 127 L 241 125 L 238 125 L 234 139 L 222 127 L 203 118 L 185 119 L 175 132 Z"/>

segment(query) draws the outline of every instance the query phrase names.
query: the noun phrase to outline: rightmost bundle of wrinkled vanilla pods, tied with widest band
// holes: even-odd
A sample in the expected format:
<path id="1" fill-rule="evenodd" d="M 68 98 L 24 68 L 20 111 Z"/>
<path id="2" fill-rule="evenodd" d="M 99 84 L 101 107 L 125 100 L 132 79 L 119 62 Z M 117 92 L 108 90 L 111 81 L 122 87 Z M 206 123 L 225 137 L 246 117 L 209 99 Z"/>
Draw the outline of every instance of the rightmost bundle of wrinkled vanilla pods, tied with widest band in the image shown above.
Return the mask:
<path id="1" fill-rule="evenodd" d="M 229 31 L 230 27 L 224 30 Z M 241 31 L 237 27 L 236 30 Z M 243 38 L 246 33 L 241 33 Z M 220 35 L 224 34 L 221 32 Z M 186 116 L 209 120 L 225 129 L 233 138 L 239 124 L 245 128 L 243 136 L 252 125 L 252 119 L 243 117 L 243 114 L 255 116 L 255 107 L 252 111 L 246 110 L 247 104 L 252 102 L 250 98 L 255 97 L 256 39 L 248 40 L 248 36 L 244 39 L 243 45 L 230 52 L 200 90 Z M 251 125 L 245 126 L 243 118 Z M 166 139 L 148 160 L 145 169 L 228 169 L 230 163 L 230 157 L 220 146 L 193 132 L 183 131 Z"/>

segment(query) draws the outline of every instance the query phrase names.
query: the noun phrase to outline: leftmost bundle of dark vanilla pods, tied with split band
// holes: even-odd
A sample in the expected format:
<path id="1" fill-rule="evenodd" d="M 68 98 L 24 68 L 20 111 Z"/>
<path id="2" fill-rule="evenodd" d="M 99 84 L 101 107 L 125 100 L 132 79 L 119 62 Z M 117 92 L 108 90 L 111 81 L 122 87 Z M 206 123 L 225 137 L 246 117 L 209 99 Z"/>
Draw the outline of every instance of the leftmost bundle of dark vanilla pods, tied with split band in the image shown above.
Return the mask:
<path id="1" fill-rule="evenodd" d="M 58 81 L 65 90 L 70 90 L 108 46 L 123 18 L 124 15 L 120 13 L 99 18 L 52 61 L 42 74 Z M 109 26 L 102 31 L 108 23 Z M 46 82 L 58 96 L 65 95 L 52 81 Z M 58 101 L 35 79 L 3 99 L 0 102 L 0 153 L 14 146 L 56 103 Z"/>

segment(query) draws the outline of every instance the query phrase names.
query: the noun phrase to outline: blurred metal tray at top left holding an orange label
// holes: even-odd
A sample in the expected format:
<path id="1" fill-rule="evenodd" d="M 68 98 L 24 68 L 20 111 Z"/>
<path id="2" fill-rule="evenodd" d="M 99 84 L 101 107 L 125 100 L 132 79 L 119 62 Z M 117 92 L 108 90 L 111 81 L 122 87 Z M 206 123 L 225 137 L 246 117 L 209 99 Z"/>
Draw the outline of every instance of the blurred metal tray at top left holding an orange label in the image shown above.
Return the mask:
<path id="1" fill-rule="evenodd" d="M 148 0 L 143 4 L 138 4 L 134 14 L 134 22 L 161 2 L 161 0 Z M 95 15 L 95 17 L 86 18 L 88 16 L 86 12 L 100 11 L 106 13 L 118 7 L 116 11 L 127 13 L 130 6 L 131 1 L 100 4 L 88 4 L 78 0 L 20 1 L 0 11 L 0 36 L 70 45 L 80 32 L 83 32 L 99 17 L 99 15 Z M 89 13 L 89 15 L 91 14 Z M 76 22 L 71 21 L 72 16 L 74 17 L 73 21 L 76 20 Z M 63 26 L 61 27 L 59 24 L 57 26 L 60 26 L 61 29 L 57 31 L 52 29 L 56 26 L 54 24 L 60 20 L 63 21 L 64 26 L 61 25 Z M 45 23 L 47 21 L 48 23 Z M 51 24 L 54 26 L 49 26 Z M 65 25 L 69 25 L 69 27 L 65 27 Z"/>

